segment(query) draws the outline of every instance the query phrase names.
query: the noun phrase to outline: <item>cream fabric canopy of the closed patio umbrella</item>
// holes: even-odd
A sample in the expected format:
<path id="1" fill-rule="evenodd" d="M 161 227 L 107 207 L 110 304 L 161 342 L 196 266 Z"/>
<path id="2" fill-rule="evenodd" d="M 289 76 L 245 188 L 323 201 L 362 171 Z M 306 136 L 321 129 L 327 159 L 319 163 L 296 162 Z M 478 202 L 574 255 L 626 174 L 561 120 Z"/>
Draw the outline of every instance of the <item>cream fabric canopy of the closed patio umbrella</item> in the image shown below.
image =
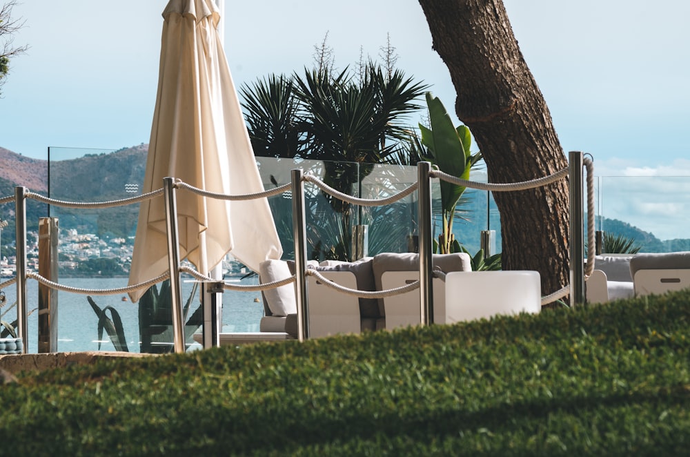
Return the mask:
<path id="1" fill-rule="evenodd" d="M 158 92 L 144 193 L 164 177 L 214 193 L 264 191 L 249 136 L 217 33 L 213 0 L 170 0 L 163 12 Z M 208 273 L 225 255 L 254 271 L 279 259 L 282 248 L 268 201 L 228 202 L 177 191 L 179 255 Z M 147 200 L 139 222 L 129 284 L 168 270 L 165 202 Z M 130 294 L 132 302 L 144 291 Z"/>

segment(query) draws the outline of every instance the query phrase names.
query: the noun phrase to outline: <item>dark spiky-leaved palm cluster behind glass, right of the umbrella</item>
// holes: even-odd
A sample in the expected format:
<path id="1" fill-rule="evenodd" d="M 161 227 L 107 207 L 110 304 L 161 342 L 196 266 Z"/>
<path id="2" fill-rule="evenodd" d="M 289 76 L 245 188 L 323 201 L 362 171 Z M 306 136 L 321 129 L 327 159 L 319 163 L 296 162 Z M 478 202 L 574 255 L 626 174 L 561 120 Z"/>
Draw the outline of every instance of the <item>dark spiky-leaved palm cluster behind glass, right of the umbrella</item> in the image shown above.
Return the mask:
<path id="1" fill-rule="evenodd" d="M 384 72 L 373 62 L 366 64 L 358 78 L 348 69 L 333 72 L 331 68 L 305 68 L 303 77 L 273 76 L 244 86 L 248 130 L 257 155 L 322 160 L 328 186 L 359 194 L 362 179 L 371 173 L 373 164 L 402 163 L 406 151 L 419 150 L 404 120 L 420 108 L 415 99 L 427 86 L 406 78 L 400 70 Z M 412 160 L 416 163 L 418 157 L 415 154 Z M 314 249 L 319 257 L 346 260 L 352 208 L 330 195 L 323 197 L 337 215 L 317 226 L 341 237 L 342 242 Z M 355 223 L 361 223 L 361 216 L 360 211 Z M 335 225 L 326 229 L 326 220 Z"/>

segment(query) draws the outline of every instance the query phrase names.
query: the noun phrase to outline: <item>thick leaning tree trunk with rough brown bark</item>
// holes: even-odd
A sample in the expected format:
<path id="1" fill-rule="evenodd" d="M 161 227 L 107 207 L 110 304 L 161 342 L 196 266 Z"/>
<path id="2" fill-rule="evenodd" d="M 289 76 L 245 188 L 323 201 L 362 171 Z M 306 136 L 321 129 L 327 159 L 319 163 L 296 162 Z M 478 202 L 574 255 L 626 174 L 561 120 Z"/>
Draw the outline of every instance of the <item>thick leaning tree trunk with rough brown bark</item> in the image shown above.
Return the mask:
<path id="1" fill-rule="evenodd" d="M 457 92 L 455 112 L 482 151 L 489 182 L 522 182 L 567 166 L 549 109 L 513 35 L 502 0 L 420 0 L 433 48 Z M 542 293 L 569 282 L 569 195 L 564 180 L 494 193 L 502 263 L 536 270 Z"/>

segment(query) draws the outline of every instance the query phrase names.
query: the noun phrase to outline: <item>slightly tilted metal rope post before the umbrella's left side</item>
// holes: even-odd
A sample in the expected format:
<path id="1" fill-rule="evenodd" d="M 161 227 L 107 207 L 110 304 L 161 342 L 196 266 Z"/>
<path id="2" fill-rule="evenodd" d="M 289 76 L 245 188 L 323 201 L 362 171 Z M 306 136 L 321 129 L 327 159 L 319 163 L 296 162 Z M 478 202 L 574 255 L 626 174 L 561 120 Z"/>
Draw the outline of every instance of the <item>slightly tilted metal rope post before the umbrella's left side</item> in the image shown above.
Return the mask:
<path id="1" fill-rule="evenodd" d="M 168 265 L 170 268 L 170 307 L 172 307 L 172 342 L 176 353 L 185 349 L 182 323 L 182 299 L 179 284 L 179 237 L 177 235 L 177 200 L 174 178 L 164 177 L 166 197 L 166 231 L 168 234 Z"/>

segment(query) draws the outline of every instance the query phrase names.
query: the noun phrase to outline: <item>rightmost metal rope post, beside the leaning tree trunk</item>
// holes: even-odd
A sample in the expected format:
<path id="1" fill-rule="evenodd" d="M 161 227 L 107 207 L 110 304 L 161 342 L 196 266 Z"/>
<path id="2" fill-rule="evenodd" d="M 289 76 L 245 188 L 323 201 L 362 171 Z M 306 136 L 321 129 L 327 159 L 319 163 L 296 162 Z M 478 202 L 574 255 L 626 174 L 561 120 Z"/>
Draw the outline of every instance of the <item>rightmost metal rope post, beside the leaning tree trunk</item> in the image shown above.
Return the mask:
<path id="1" fill-rule="evenodd" d="M 583 154 L 569 153 L 570 179 L 570 304 L 584 303 L 584 208 L 582 185 L 584 183 Z"/>

